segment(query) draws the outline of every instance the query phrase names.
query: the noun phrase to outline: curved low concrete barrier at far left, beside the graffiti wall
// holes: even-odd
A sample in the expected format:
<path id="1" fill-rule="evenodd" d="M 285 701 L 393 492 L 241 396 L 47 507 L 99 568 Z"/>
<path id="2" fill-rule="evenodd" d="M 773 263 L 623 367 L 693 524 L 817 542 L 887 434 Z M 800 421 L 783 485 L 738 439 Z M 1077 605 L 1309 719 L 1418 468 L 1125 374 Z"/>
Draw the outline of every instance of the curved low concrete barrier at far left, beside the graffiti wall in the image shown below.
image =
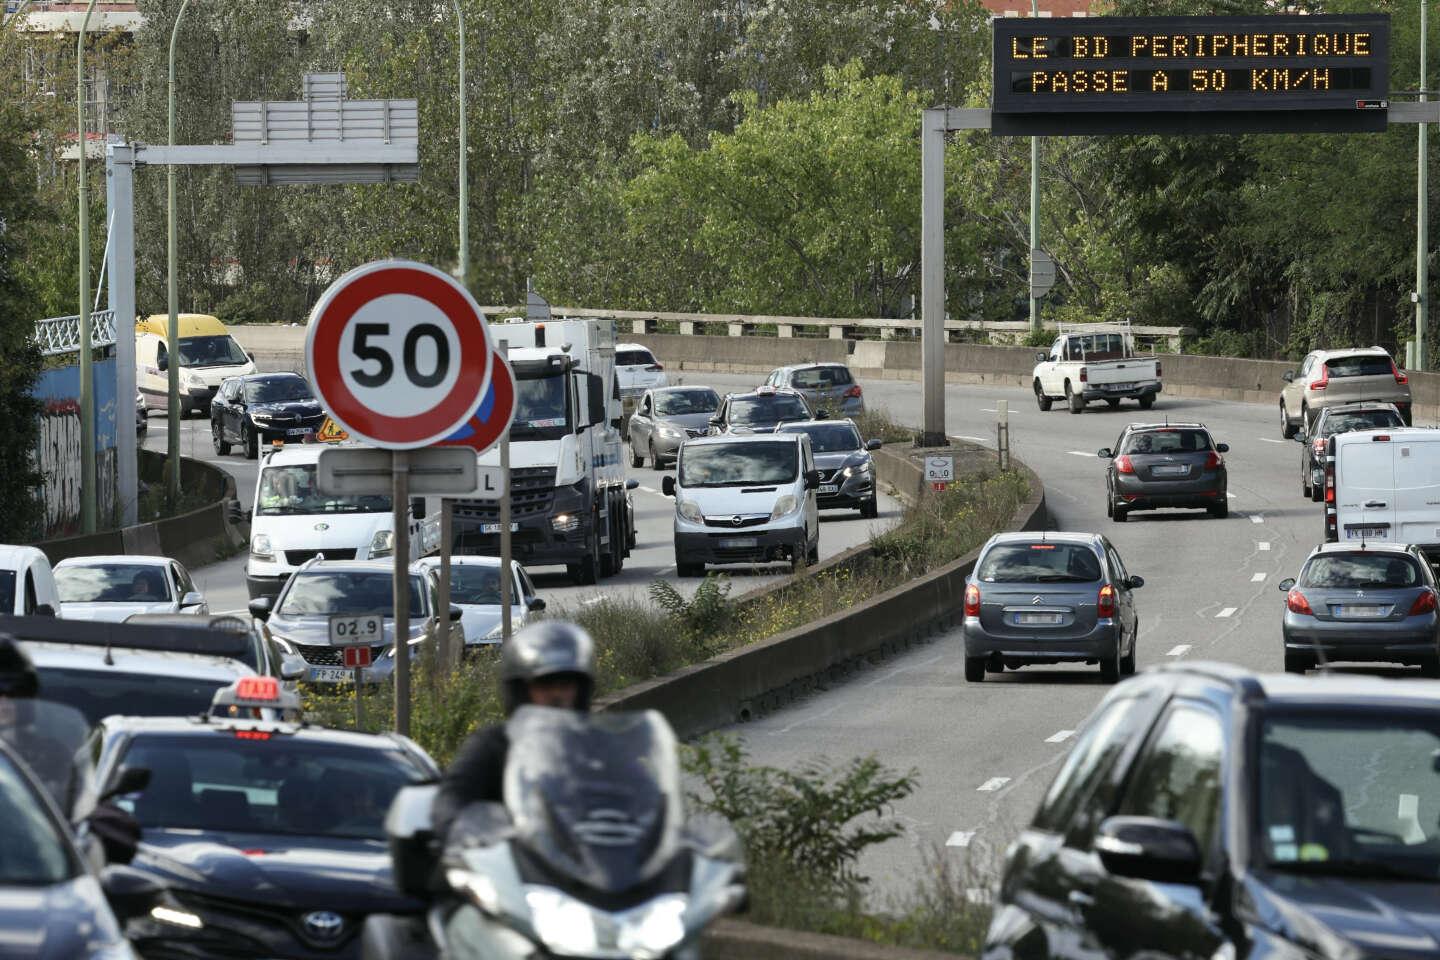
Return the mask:
<path id="1" fill-rule="evenodd" d="M 163 455 L 140 450 L 143 488 L 164 486 L 164 463 Z M 66 557 L 131 554 L 174 557 L 187 567 L 202 567 L 245 543 L 245 535 L 228 520 L 229 507 L 236 502 L 233 476 L 202 461 L 180 458 L 180 489 L 204 505 L 148 524 L 43 540 L 35 545 L 52 564 Z"/>

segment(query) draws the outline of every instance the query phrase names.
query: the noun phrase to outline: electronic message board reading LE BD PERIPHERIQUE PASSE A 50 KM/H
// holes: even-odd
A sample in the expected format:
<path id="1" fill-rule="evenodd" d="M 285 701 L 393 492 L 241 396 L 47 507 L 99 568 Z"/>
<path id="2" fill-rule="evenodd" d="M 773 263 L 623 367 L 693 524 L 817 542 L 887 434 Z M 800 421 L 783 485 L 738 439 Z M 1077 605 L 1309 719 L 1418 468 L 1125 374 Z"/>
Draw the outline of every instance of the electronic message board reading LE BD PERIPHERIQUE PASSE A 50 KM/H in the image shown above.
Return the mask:
<path id="1" fill-rule="evenodd" d="M 1390 17 L 996 19 L 996 134 L 1372 132 Z"/>

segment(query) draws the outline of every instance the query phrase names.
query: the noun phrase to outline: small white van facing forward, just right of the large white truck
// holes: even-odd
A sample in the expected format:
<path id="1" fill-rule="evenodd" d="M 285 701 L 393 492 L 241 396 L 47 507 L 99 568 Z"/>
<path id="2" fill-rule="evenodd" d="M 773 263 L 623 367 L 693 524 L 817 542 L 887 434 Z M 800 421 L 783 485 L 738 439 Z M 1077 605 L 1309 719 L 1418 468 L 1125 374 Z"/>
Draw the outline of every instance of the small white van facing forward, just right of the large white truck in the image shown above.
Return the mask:
<path id="1" fill-rule="evenodd" d="M 819 471 L 805 433 L 726 433 L 685 440 L 675 474 L 675 571 L 707 563 L 819 561 Z"/>

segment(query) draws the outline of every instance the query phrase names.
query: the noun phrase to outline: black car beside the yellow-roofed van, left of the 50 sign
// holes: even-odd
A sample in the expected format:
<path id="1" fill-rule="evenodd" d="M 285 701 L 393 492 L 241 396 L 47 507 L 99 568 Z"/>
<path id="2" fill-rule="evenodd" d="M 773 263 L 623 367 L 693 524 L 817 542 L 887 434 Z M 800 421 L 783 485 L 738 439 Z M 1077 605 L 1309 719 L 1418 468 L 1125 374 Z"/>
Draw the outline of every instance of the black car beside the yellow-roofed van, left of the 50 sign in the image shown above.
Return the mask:
<path id="1" fill-rule="evenodd" d="M 210 439 L 220 456 L 230 452 L 232 443 L 240 443 L 253 461 L 261 445 L 302 440 L 324 422 L 320 400 L 297 373 L 230 377 L 210 402 Z"/>

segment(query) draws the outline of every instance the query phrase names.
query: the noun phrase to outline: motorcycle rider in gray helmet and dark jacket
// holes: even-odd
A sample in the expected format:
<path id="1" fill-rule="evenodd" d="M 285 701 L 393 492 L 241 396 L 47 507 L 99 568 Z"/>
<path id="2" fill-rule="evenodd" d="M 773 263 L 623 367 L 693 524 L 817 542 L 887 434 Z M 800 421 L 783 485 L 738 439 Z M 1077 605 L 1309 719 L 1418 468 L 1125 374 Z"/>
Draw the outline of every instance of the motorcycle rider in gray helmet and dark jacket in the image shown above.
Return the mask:
<path id="1" fill-rule="evenodd" d="M 501 697 L 505 717 L 521 704 L 589 712 L 595 692 L 595 640 L 582 628 L 541 620 L 524 628 L 501 652 Z M 435 836 L 444 838 L 469 803 L 504 802 L 505 724 L 481 727 L 465 740 L 441 780 L 431 813 Z"/>

